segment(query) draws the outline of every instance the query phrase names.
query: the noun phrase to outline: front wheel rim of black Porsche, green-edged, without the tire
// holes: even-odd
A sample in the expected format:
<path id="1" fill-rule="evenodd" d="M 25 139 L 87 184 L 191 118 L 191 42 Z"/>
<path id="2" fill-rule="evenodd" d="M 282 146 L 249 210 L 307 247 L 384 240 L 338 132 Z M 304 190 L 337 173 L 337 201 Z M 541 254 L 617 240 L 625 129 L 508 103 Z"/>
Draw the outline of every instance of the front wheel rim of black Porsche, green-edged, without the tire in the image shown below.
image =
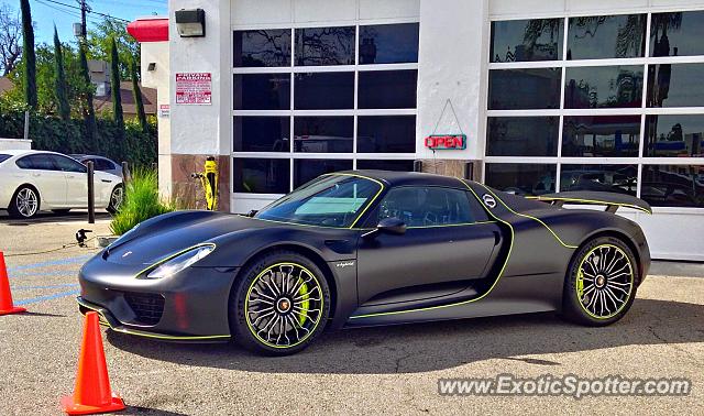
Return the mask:
<path id="1" fill-rule="evenodd" d="M 298 275 L 294 276 L 297 270 Z M 317 297 L 312 296 L 315 292 Z M 252 280 L 244 298 L 250 333 L 264 346 L 278 349 L 296 347 L 310 338 L 322 320 L 323 309 L 324 295 L 318 277 L 295 262 L 279 262 L 264 269 Z M 260 336 L 262 332 L 266 332 L 266 338 Z"/>

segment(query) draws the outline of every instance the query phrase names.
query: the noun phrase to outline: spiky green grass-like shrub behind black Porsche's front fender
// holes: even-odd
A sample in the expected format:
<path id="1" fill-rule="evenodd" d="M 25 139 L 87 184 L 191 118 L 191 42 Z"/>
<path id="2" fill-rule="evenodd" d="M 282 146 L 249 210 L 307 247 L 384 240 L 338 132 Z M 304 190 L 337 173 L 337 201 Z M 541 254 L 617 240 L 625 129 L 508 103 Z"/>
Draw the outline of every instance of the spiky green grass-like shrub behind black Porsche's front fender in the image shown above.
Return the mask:
<path id="1" fill-rule="evenodd" d="M 124 201 L 110 222 L 110 231 L 122 236 L 138 223 L 174 209 L 172 204 L 164 204 L 158 196 L 156 172 L 138 168 L 132 172 L 132 178 L 127 184 Z"/>

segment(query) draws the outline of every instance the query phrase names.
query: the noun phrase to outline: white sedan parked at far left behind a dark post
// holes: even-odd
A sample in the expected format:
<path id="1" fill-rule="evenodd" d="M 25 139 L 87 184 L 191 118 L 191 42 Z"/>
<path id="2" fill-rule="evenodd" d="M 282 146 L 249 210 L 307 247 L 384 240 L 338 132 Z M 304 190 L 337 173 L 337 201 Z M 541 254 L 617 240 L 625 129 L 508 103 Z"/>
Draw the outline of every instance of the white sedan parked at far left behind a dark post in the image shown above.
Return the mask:
<path id="1" fill-rule="evenodd" d="M 114 212 L 122 204 L 122 178 L 95 172 L 96 208 Z M 0 209 L 11 217 L 88 207 L 88 173 L 80 162 L 54 152 L 0 151 Z"/>

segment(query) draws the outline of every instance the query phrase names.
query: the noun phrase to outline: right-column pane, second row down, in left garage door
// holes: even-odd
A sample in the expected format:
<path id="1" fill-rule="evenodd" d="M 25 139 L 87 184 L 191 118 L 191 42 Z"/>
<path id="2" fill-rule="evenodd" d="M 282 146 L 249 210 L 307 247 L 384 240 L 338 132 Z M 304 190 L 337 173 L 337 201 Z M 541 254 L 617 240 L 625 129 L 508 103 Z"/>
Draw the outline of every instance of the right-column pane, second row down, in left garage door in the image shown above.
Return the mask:
<path id="1" fill-rule="evenodd" d="M 416 108 L 417 70 L 360 72 L 359 108 Z"/>

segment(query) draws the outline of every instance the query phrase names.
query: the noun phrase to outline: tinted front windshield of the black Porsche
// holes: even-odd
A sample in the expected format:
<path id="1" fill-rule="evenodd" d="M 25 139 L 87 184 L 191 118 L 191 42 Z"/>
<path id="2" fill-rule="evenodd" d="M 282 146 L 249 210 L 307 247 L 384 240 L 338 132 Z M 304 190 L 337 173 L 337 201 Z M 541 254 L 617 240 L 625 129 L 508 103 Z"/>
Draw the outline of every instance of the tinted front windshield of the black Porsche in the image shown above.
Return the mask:
<path id="1" fill-rule="evenodd" d="M 350 175 L 315 179 L 276 200 L 254 218 L 309 226 L 352 227 L 382 189 L 375 180 Z"/>

